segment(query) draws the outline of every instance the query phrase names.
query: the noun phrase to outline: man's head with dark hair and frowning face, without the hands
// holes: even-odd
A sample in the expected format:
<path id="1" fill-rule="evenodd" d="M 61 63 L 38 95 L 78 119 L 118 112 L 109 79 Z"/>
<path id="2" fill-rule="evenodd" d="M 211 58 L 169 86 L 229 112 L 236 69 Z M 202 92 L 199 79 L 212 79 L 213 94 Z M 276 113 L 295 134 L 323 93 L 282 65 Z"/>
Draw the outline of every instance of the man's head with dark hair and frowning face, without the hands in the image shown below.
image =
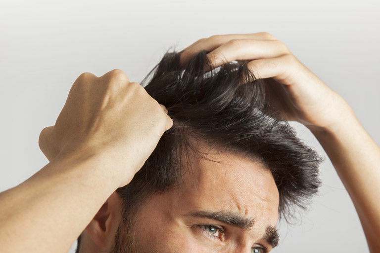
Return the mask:
<path id="1" fill-rule="evenodd" d="M 174 124 L 113 196 L 113 252 L 270 249 L 278 217 L 316 193 L 321 158 L 268 106 L 246 62 L 212 70 L 205 51 L 179 58 L 165 54 L 142 82 Z"/>

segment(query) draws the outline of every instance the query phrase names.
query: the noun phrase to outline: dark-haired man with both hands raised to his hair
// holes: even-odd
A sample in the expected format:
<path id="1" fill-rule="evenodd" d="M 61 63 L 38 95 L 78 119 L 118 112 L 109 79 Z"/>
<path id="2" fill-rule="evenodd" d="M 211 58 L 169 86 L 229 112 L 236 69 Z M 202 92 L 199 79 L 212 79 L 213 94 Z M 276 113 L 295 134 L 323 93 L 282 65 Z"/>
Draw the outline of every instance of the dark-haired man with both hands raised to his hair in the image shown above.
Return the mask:
<path id="1" fill-rule="evenodd" d="M 380 251 L 380 148 L 283 43 L 267 33 L 211 36 L 167 57 L 146 90 L 120 70 L 77 78 L 56 124 L 40 135 L 50 162 L 0 195 L 1 252 L 67 252 L 79 235 L 80 253 L 268 252 L 279 211 L 302 207 L 319 184 L 319 157 L 282 118 L 316 136 L 370 251 Z M 255 82 L 250 72 L 272 79 Z M 222 116 L 231 122 L 223 129 Z"/>

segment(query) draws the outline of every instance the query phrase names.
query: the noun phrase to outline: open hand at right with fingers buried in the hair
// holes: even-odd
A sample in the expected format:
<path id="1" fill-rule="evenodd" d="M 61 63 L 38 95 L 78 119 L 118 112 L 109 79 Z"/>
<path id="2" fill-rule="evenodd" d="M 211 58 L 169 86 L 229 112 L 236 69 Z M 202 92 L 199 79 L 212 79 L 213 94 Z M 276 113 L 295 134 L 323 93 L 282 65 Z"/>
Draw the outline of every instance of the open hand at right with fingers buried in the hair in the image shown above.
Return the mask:
<path id="1" fill-rule="evenodd" d="M 286 120 L 309 129 L 333 129 L 354 115 L 346 101 L 307 69 L 285 46 L 268 33 L 217 35 L 185 48 L 181 63 L 206 50 L 213 68 L 235 60 L 251 60 L 247 67 L 266 79 L 266 99 Z"/>

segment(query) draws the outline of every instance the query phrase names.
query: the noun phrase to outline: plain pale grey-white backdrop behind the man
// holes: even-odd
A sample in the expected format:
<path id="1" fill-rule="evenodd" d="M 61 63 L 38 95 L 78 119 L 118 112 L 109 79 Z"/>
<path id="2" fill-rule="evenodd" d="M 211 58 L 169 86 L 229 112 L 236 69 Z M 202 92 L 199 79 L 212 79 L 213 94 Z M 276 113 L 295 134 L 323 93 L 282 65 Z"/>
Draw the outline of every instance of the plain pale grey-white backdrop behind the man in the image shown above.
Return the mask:
<path id="1" fill-rule="evenodd" d="M 216 34 L 276 36 L 351 105 L 379 145 L 379 11 L 378 0 L 1 0 L 0 191 L 47 164 L 40 131 L 54 124 L 82 72 L 121 69 L 140 82 L 171 46 Z M 273 252 L 369 252 L 330 160 L 304 126 L 292 125 L 326 157 L 323 186 L 300 222 L 280 224 Z"/>

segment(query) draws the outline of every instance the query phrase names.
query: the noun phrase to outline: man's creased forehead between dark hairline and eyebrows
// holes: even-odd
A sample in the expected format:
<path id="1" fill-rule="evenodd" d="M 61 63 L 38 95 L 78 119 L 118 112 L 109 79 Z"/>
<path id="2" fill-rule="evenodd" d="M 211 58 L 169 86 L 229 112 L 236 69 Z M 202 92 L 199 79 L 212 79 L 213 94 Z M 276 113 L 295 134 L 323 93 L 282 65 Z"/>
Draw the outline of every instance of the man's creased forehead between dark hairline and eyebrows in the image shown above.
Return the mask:
<path id="1" fill-rule="evenodd" d="M 179 206 L 188 210 L 225 210 L 276 225 L 279 192 L 264 164 L 216 149 L 192 158 L 184 184 L 175 190 Z"/>

